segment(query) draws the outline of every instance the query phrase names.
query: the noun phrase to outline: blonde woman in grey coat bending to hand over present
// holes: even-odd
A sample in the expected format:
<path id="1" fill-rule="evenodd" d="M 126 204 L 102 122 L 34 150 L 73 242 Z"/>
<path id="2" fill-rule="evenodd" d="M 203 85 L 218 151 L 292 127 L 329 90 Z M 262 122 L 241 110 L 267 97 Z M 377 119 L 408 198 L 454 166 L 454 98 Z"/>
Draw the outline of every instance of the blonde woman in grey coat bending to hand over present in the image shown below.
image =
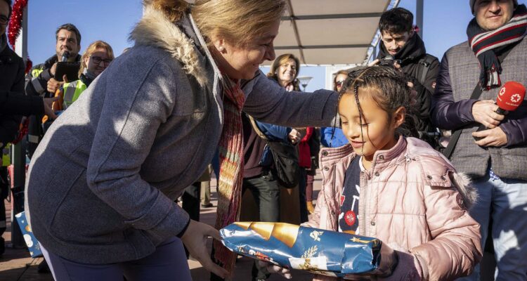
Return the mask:
<path id="1" fill-rule="evenodd" d="M 191 280 L 183 243 L 228 276 L 235 255 L 219 231 L 174 200 L 219 151 L 216 228 L 235 221 L 242 110 L 286 126 L 335 116 L 336 93 L 286 93 L 259 71 L 275 58 L 285 1 L 144 4 L 135 45 L 53 123 L 30 164 L 26 210 L 56 280 Z"/>

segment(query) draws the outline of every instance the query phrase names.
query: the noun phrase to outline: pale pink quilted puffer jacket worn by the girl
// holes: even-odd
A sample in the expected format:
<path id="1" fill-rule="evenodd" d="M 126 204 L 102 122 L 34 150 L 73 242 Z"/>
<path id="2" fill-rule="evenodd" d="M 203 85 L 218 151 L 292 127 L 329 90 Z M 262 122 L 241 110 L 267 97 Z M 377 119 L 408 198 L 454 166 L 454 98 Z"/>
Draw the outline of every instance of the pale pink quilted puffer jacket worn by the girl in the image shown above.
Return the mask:
<path id="1" fill-rule="evenodd" d="M 338 198 L 355 156 L 351 145 L 320 151 L 323 188 L 304 226 L 337 231 Z M 453 280 L 472 272 L 481 259 L 481 237 L 467 211 L 476 200 L 468 183 L 417 138 L 399 138 L 390 150 L 375 153 L 372 168 L 360 174 L 359 233 L 382 240 L 399 258 L 395 272 L 379 280 Z"/>

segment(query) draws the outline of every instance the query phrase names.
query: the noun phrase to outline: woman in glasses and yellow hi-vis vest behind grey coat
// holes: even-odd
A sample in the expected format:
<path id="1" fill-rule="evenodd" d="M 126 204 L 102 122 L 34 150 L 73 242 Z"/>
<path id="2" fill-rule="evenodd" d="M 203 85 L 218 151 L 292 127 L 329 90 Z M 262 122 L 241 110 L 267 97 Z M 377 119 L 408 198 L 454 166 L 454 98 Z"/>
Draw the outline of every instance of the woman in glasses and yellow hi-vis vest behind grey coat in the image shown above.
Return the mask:
<path id="1" fill-rule="evenodd" d="M 112 47 L 105 41 L 95 41 L 90 44 L 81 57 L 79 79 L 66 82 L 63 85 L 62 109 L 65 110 L 72 105 L 81 93 L 90 86 L 93 79 L 96 79 L 110 65 L 114 58 Z"/>

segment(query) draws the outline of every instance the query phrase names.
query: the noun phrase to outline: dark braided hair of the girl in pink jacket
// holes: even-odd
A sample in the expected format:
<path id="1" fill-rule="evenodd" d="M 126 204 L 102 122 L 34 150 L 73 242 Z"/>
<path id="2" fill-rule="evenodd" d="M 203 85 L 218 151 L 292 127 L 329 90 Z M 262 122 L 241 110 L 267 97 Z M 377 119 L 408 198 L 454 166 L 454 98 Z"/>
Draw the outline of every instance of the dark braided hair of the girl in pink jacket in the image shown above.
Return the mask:
<path id="1" fill-rule="evenodd" d="M 349 72 L 339 92 L 339 102 L 342 96 L 353 94 L 357 103 L 360 122 L 363 123 L 363 111 L 360 107 L 358 89 L 369 89 L 372 100 L 379 105 L 391 119 L 399 107 L 406 110 L 405 122 L 396 133 L 403 136 L 419 136 L 415 128 L 415 91 L 408 86 L 408 79 L 402 72 L 387 66 L 363 67 Z M 362 127 L 361 127 L 362 128 Z M 361 132 L 362 133 L 362 132 Z"/>

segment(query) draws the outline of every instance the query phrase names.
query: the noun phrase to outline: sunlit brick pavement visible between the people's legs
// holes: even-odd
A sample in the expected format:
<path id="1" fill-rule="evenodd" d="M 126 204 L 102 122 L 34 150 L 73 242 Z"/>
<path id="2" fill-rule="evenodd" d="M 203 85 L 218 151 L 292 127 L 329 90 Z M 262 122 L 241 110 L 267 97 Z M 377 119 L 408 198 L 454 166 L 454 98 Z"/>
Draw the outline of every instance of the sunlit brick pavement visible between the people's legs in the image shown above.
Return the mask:
<path id="1" fill-rule="evenodd" d="M 216 181 L 211 182 L 212 203 L 217 205 Z M 316 198 L 320 190 L 320 176 L 315 177 L 314 194 Z M 0 281 L 53 281 L 50 273 L 37 273 L 37 266 L 42 258 L 32 259 L 27 249 L 13 249 L 11 247 L 11 204 L 6 202 L 7 230 L 2 237 L 6 240 L 6 252 L 0 257 Z M 201 221 L 214 225 L 216 218 L 216 207 L 202 209 L 200 212 Z M 207 246 L 211 247 L 212 242 L 209 240 Z M 195 281 L 209 280 L 209 273 L 202 268 L 197 261 L 190 259 L 188 261 L 190 272 Z M 236 263 L 235 275 L 233 281 L 250 280 L 252 268 L 252 259 L 241 257 Z M 311 280 L 311 274 L 300 271 L 294 271 L 293 280 Z M 271 275 L 268 281 L 286 280 L 280 275 Z"/>

